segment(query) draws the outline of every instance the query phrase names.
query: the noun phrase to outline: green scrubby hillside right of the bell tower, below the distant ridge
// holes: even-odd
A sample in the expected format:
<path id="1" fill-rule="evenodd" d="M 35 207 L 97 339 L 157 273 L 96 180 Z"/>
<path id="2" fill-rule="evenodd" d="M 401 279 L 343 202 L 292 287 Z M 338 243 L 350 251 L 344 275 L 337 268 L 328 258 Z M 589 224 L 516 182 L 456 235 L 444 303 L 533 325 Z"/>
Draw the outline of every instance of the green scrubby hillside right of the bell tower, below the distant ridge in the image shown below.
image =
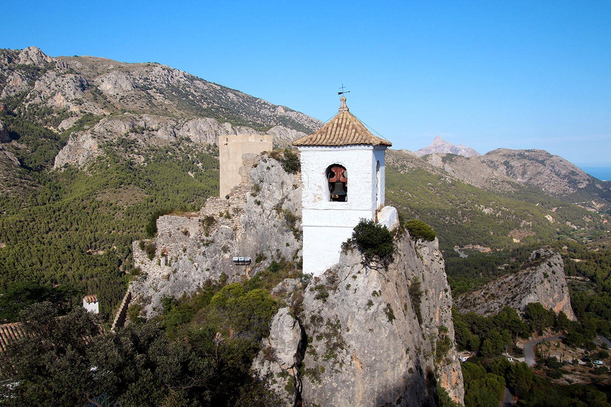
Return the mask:
<path id="1" fill-rule="evenodd" d="M 517 157 L 525 152 L 514 153 Z M 568 180 L 558 177 L 556 182 L 568 193 L 554 196 L 535 181 L 519 181 L 493 170 L 480 161 L 485 157 L 417 157 L 389 151 L 386 203 L 397 207 L 404 219 L 417 218 L 431 225 L 444 250 L 468 245 L 504 250 L 558 238 L 607 236 L 611 200 L 605 194 L 611 184 L 587 178 L 601 185 L 602 189 L 593 186 L 599 195 L 591 193 L 590 184 L 570 193 L 569 185 L 577 183 L 582 171 Z M 549 154 L 548 158 L 554 162 L 554 157 Z M 530 171 L 542 165 L 524 164 Z M 583 201 L 574 201 L 576 197 Z"/>

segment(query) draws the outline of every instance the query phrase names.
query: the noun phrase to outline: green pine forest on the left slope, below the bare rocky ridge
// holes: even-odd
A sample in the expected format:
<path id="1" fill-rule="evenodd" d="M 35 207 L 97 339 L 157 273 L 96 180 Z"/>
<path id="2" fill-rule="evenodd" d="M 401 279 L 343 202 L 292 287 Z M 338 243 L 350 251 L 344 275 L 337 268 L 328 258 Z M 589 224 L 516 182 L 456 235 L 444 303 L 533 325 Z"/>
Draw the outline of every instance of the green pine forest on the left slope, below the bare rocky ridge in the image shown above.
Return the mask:
<path id="1" fill-rule="evenodd" d="M 18 192 L 0 195 L 3 290 L 25 282 L 70 286 L 78 294 L 74 301 L 97 294 L 108 321 L 133 268 L 131 243 L 146 237 L 148 223 L 163 213 L 199 211 L 208 196 L 218 195 L 216 146 L 187 139 L 143 146 L 126 135 L 106 143 L 86 171 L 52 171 L 66 136 L 18 116 L 0 118 L 24 146 L 15 150 L 23 163 L 13 180 Z M 66 133 L 83 123 L 87 118 Z M 126 158 L 133 151 L 142 163 Z M 12 322 L 2 312 L 0 319 Z"/>

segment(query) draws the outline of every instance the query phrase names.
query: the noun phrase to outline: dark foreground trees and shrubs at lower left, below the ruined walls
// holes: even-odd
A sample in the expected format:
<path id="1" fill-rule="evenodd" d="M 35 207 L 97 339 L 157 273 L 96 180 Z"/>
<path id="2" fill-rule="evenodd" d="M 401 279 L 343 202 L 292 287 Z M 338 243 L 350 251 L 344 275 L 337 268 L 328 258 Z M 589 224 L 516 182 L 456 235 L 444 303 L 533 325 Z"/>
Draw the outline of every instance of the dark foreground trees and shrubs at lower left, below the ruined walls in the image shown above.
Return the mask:
<path id="1" fill-rule="evenodd" d="M 289 275 L 274 264 L 268 276 Z M 21 311 L 28 336 L 0 358 L 2 378 L 20 383 L 0 386 L 2 403 L 276 406 L 250 372 L 277 311 L 260 287 L 262 278 L 208 284 L 179 300 L 166 298 L 163 315 L 136 317 L 117 333 L 105 332 L 98 315 L 82 307 L 58 319 L 54 304 L 32 304 Z"/>

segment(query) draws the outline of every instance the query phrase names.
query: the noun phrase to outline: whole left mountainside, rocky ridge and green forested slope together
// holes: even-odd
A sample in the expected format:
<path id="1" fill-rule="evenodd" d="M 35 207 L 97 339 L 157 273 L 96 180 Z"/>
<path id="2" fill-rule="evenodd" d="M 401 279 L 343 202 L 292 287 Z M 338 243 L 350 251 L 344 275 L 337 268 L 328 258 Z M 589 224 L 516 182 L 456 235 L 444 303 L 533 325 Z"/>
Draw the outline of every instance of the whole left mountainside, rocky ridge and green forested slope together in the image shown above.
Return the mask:
<path id="1" fill-rule="evenodd" d="M 159 63 L 35 47 L 0 50 L 0 122 L 0 290 L 24 303 L 52 287 L 70 293 L 57 304 L 98 294 L 106 321 L 139 273 L 131 242 L 218 195 L 220 134 L 286 142 L 320 125 Z"/>

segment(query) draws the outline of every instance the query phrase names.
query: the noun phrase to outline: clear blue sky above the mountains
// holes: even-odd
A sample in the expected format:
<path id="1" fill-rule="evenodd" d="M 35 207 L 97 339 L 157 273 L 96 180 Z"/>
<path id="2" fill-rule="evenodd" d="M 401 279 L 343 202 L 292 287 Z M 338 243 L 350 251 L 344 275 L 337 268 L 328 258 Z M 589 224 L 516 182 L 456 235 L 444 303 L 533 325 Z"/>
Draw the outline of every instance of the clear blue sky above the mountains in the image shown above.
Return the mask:
<path id="1" fill-rule="evenodd" d="M 393 143 L 611 167 L 611 1 L 10 1 L 0 48 L 159 62 Z"/>

